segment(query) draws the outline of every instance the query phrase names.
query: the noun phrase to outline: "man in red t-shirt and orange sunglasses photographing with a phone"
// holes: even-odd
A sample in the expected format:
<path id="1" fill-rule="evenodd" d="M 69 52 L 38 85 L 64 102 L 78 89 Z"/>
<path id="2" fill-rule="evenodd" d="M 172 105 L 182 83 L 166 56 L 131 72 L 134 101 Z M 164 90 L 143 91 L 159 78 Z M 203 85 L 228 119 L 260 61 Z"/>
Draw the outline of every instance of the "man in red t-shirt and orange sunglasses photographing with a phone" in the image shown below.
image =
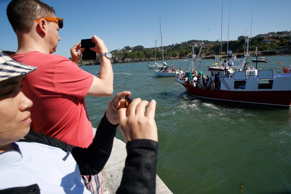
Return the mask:
<path id="1" fill-rule="evenodd" d="M 104 42 L 96 35 L 92 37 L 96 46 L 90 49 L 102 55 L 98 78 L 77 66 L 84 51 L 80 42 L 70 50 L 72 61 L 52 54 L 60 40 L 58 30 L 63 27 L 63 19 L 56 18 L 54 8 L 38 0 L 13 0 L 7 16 L 19 43 L 13 59 L 39 70 L 27 75 L 22 83 L 23 92 L 34 103 L 32 129 L 88 147 L 93 131 L 84 97 L 113 93 L 113 71 Z"/>

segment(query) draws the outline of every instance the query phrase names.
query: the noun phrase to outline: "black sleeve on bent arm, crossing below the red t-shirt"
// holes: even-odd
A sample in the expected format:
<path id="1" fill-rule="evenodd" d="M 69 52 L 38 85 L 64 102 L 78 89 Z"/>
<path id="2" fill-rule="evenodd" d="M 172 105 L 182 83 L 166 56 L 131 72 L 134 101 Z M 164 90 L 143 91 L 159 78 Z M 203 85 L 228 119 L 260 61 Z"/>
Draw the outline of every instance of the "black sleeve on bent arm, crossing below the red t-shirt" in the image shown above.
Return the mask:
<path id="1" fill-rule="evenodd" d="M 81 175 L 97 175 L 105 166 L 109 159 L 113 139 L 116 135 L 117 125 L 112 125 L 104 115 L 97 128 L 93 142 L 88 148 L 76 147 L 69 145 L 54 137 L 48 137 L 44 134 L 30 131 L 24 138 L 19 141 L 37 142 L 53 147 L 67 149 L 72 153 L 76 160 Z"/>

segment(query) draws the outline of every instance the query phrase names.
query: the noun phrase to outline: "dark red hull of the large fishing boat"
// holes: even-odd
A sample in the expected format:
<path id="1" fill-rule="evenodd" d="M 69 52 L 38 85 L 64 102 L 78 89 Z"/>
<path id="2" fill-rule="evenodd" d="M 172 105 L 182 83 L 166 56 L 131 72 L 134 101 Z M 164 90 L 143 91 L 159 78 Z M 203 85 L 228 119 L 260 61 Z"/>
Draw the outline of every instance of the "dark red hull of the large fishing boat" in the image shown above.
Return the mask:
<path id="1" fill-rule="evenodd" d="M 210 90 L 198 88 L 181 83 L 186 91 L 195 97 L 224 100 L 232 102 L 244 102 L 254 104 L 266 104 L 289 108 L 291 105 L 291 91 L 236 91 L 236 90 Z"/>

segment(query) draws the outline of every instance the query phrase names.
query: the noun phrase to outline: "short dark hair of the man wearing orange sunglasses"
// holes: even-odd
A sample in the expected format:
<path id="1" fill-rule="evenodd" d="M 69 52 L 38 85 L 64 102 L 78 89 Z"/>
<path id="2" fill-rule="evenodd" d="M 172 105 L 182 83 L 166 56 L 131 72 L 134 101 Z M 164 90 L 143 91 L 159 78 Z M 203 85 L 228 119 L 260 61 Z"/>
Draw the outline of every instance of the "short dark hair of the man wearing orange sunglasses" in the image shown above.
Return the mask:
<path id="1" fill-rule="evenodd" d="M 39 0 L 12 0 L 6 14 L 15 32 L 29 32 L 36 19 L 50 17 L 55 10 Z"/>

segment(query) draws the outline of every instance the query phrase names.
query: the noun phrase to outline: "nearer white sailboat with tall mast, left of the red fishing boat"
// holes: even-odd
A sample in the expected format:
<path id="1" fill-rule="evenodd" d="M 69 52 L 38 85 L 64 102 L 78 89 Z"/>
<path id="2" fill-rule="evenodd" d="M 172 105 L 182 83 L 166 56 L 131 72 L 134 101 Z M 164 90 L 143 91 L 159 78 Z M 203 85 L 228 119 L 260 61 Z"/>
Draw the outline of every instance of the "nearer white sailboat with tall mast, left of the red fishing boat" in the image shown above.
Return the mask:
<path id="1" fill-rule="evenodd" d="M 162 40 L 162 24 L 160 20 L 160 31 L 161 31 L 161 44 L 162 44 L 162 58 L 163 58 L 163 64 L 155 63 L 156 69 L 154 69 L 155 76 L 159 77 L 175 77 L 177 74 L 183 73 L 183 71 L 172 71 L 170 68 L 168 68 L 168 65 L 166 62 L 164 62 L 164 50 L 163 50 L 163 40 Z M 156 49 L 157 51 L 157 49 Z M 163 65 L 163 69 L 159 70 L 157 65 Z"/>

